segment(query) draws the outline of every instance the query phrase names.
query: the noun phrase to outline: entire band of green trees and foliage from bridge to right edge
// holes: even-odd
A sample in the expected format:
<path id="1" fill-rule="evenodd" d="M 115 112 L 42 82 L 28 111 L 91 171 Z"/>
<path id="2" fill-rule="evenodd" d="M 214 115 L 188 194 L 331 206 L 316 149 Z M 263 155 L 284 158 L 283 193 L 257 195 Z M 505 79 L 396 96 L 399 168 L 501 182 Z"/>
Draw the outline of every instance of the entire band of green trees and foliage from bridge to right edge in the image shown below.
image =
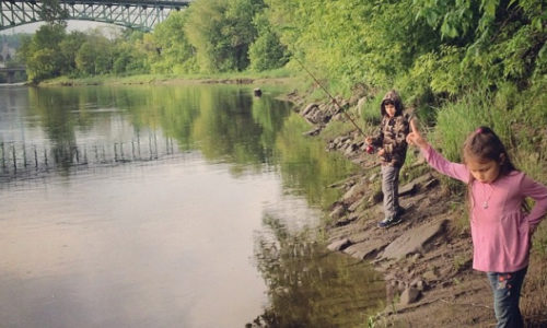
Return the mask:
<path id="1" fill-rule="evenodd" d="M 542 0 L 196 0 L 153 32 L 67 33 L 23 40 L 35 81 L 61 74 L 263 71 L 299 59 L 336 80 L 412 94 L 526 86 L 546 69 Z"/>

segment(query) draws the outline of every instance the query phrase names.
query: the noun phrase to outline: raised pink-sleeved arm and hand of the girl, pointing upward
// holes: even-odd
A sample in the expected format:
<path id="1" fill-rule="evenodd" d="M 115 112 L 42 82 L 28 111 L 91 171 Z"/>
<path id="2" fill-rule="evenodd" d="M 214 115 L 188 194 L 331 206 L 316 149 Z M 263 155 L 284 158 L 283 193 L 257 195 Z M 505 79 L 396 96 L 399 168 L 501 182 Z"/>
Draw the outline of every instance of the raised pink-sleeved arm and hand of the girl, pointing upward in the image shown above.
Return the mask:
<path id="1" fill-rule="evenodd" d="M 464 164 L 452 163 L 439 154 L 421 136 L 415 119 L 410 120 L 410 133 L 407 136 L 407 142 L 420 148 L 423 157 L 426 157 L 431 167 L 466 184 L 469 181 L 469 171 L 467 171 L 467 167 Z"/>

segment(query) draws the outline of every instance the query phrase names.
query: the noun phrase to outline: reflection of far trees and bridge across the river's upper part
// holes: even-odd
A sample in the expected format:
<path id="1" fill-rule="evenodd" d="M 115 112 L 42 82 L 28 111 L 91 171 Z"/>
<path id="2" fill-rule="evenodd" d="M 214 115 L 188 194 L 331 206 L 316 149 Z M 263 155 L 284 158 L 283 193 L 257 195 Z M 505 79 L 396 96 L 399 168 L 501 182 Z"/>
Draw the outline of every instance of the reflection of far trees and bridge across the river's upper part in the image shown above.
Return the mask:
<path id="1" fill-rule="evenodd" d="M 275 164 L 276 136 L 290 114 L 287 103 L 229 86 L 0 93 L 10 103 L 0 107 L 4 178 L 51 168 L 66 175 L 74 165 L 161 160 L 197 149 L 211 162 L 232 163 L 234 174 L 260 171 Z M 12 114 L 18 107 L 22 113 Z"/>

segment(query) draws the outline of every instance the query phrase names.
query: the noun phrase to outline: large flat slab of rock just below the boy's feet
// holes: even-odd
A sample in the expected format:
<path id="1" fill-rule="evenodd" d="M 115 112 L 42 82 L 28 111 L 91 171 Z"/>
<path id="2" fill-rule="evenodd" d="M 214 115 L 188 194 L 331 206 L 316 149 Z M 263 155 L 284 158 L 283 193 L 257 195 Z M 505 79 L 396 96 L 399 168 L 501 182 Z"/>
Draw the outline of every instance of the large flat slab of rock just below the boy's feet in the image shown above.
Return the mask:
<path id="1" fill-rule="evenodd" d="M 446 220 L 441 220 L 408 230 L 387 245 L 380 259 L 398 260 L 409 254 L 420 253 L 423 246 L 444 229 L 446 222 Z"/>

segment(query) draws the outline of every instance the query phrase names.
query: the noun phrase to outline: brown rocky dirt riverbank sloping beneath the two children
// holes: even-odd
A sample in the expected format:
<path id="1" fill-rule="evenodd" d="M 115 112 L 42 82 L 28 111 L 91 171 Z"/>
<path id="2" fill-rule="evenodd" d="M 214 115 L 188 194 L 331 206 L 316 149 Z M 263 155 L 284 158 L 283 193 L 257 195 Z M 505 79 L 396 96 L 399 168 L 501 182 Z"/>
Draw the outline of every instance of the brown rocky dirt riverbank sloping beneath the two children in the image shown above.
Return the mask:
<path id="1" fill-rule="evenodd" d="M 451 195 L 440 175 L 411 149 L 399 186 L 400 203 L 407 209 L 404 220 L 389 229 L 377 227 L 383 219 L 380 165 L 366 154 L 363 137 L 357 131 L 323 137 L 322 131 L 345 116 L 333 104 L 292 101 L 312 126 L 309 136 L 324 138 L 327 151 L 341 152 L 362 168 L 330 186 L 344 196 L 329 209 L 326 235 L 330 250 L 370 261 L 384 276 L 385 309 L 371 316 L 368 326 L 496 326 L 486 274 L 472 269 L 464 196 Z M 359 97 L 347 104 L 358 106 Z M 547 327 L 546 277 L 545 260 L 533 251 L 521 298 L 526 327 Z"/>

